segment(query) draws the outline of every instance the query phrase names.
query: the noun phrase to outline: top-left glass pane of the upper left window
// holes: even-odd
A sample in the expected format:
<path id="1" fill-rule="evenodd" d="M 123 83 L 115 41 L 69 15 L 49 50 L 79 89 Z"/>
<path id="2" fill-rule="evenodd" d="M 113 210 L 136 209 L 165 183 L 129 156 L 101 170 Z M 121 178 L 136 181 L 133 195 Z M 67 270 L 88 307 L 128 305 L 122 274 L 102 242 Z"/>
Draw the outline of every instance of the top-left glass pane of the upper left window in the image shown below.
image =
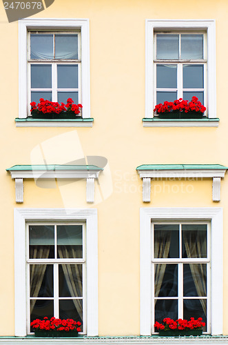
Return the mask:
<path id="1" fill-rule="evenodd" d="M 31 34 L 31 59 L 53 59 L 53 34 Z"/>

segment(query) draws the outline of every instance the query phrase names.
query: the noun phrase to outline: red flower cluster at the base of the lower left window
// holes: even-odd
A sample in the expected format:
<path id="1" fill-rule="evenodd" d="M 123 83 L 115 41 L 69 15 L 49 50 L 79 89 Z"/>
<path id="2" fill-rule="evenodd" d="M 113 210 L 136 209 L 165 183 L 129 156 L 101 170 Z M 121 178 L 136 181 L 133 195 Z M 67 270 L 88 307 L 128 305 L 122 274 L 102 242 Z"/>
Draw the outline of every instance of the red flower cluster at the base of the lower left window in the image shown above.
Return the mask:
<path id="1" fill-rule="evenodd" d="M 34 331 L 78 331 L 81 332 L 81 322 L 76 322 L 73 319 L 56 319 L 52 317 L 50 320 L 48 317 L 43 317 L 43 320 L 35 319 L 31 322 L 30 326 L 34 328 Z"/>

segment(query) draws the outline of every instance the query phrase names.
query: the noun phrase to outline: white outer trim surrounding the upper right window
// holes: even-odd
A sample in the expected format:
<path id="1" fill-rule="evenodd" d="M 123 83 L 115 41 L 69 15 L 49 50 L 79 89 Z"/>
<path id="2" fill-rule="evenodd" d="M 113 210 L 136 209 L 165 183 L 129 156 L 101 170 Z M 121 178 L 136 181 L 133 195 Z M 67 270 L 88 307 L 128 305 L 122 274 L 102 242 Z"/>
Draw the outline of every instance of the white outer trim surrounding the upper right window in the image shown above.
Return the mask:
<path id="1" fill-rule="evenodd" d="M 153 118 L 154 109 L 154 30 L 207 30 L 207 110 L 208 118 L 216 118 L 216 22 L 208 20 L 146 19 L 145 22 L 145 118 Z"/>

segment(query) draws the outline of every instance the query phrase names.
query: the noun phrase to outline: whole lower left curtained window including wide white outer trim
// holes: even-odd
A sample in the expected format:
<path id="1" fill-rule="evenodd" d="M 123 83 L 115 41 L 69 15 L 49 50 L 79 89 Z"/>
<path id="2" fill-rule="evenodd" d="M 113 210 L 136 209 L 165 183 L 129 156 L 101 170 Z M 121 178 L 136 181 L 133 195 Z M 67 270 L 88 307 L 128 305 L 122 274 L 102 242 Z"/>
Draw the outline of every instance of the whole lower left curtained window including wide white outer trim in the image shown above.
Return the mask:
<path id="1" fill-rule="evenodd" d="M 98 335 L 97 210 L 14 209 L 15 335 L 37 317 L 72 317 Z"/>

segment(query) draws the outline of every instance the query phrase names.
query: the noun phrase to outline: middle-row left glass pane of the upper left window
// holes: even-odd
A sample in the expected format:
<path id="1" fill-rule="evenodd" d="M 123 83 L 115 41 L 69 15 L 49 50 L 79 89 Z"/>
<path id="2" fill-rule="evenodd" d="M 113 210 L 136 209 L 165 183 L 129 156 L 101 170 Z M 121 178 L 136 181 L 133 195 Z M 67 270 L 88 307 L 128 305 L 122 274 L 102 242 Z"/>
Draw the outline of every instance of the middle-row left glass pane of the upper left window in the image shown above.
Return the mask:
<path id="1" fill-rule="evenodd" d="M 51 65 L 31 65 L 31 88 L 52 88 Z"/>

